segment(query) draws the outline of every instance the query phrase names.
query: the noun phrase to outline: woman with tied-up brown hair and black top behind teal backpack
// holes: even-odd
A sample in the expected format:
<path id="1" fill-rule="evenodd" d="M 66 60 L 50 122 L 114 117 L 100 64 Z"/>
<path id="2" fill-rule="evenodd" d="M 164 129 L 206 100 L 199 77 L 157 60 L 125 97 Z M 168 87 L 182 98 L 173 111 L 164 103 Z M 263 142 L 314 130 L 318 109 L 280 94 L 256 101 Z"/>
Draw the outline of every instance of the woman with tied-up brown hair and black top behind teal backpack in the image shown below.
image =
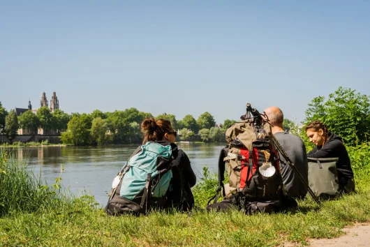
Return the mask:
<path id="1" fill-rule="evenodd" d="M 183 203 L 182 210 L 188 211 L 194 206 L 194 197 L 191 192 L 191 187 L 195 186 L 196 177 L 190 165 L 188 156 L 178 149 L 175 144 L 177 132 L 172 128 L 171 122 L 165 119 L 147 118 L 141 123 L 141 130 L 143 133 L 142 144 L 147 142 L 157 142 L 163 146 L 170 145 L 172 147 L 172 165 L 179 167 L 182 173 L 183 184 Z"/>

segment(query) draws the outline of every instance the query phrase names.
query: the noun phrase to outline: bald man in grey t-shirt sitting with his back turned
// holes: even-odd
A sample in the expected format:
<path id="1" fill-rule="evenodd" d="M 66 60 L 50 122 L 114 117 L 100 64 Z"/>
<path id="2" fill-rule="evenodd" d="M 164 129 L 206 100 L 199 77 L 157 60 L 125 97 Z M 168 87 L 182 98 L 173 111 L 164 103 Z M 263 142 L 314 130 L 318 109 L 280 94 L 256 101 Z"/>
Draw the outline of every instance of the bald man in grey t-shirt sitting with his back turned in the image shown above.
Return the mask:
<path id="1" fill-rule="evenodd" d="M 306 147 L 304 147 L 304 143 L 301 138 L 292 135 L 283 129 L 284 115 L 279 107 L 268 107 L 264 112 L 269 118 L 269 123 L 272 124 L 272 134 L 274 134 L 276 140 L 278 140 L 281 147 L 286 151 L 286 154 L 288 154 L 290 160 L 292 160 L 299 173 L 304 177 L 306 183 L 309 184 Z M 284 165 L 283 163 L 280 163 L 281 175 L 283 177 L 283 184 L 286 188 L 286 193 L 291 197 L 303 199 L 307 193 L 306 187 L 292 168 L 290 168 L 285 158 L 283 158 L 281 154 L 279 154 L 279 157 L 287 164 Z"/>

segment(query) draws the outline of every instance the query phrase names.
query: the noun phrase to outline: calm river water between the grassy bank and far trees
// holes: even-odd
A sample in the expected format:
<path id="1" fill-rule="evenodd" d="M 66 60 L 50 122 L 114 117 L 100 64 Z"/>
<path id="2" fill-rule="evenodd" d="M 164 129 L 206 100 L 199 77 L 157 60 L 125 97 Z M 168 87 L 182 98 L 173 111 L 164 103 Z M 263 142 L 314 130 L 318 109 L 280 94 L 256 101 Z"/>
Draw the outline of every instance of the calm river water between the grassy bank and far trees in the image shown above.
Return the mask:
<path id="1" fill-rule="evenodd" d="M 29 158 L 29 167 L 48 185 L 52 185 L 61 174 L 61 184 L 76 196 L 94 195 L 102 206 L 108 201 L 112 180 L 124 162 L 138 145 L 110 147 L 20 147 L 15 153 Z M 202 168 L 207 165 L 217 171 L 219 153 L 225 144 L 179 143 L 191 160 L 197 176 L 202 177 Z M 64 171 L 61 173 L 61 165 Z"/>

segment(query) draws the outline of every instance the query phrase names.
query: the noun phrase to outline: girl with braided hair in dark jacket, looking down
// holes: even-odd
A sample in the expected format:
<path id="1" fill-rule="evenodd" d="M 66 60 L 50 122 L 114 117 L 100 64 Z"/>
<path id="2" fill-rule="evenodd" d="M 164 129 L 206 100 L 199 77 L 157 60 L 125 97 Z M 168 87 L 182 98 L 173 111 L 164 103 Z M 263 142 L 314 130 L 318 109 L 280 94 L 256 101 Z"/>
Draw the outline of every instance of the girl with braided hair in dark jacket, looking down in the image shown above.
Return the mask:
<path id="1" fill-rule="evenodd" d="M 339 158 L 336 163 L 338 172 L 339 190 L 350 193 L 355 191 L 355 179 L 350 158 L 341 137 L 327 130 L 321 121 L 313 121 L 306 126 L 306 135 L 315 148 L 307 154 L 309 158 Z"/>

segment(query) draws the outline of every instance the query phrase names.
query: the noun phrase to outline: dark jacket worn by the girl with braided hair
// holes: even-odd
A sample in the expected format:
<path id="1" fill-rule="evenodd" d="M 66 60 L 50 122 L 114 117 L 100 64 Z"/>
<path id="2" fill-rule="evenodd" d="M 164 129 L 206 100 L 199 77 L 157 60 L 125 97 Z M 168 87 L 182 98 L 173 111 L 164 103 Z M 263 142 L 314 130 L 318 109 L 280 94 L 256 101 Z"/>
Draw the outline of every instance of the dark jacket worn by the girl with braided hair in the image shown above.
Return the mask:
<path id="1" fill-rule="evenodd" d="M 352 167 L 346 147 L 344 147 L 341 137 L 330 133 L 329 139 L 324 146 L 318 146 L 307 154 L 309 158 L 339 158 L 336 164 L 338 171 L 339 187 L 343 188 L 348 183 L 348 179 L 353 179 Z"/>

